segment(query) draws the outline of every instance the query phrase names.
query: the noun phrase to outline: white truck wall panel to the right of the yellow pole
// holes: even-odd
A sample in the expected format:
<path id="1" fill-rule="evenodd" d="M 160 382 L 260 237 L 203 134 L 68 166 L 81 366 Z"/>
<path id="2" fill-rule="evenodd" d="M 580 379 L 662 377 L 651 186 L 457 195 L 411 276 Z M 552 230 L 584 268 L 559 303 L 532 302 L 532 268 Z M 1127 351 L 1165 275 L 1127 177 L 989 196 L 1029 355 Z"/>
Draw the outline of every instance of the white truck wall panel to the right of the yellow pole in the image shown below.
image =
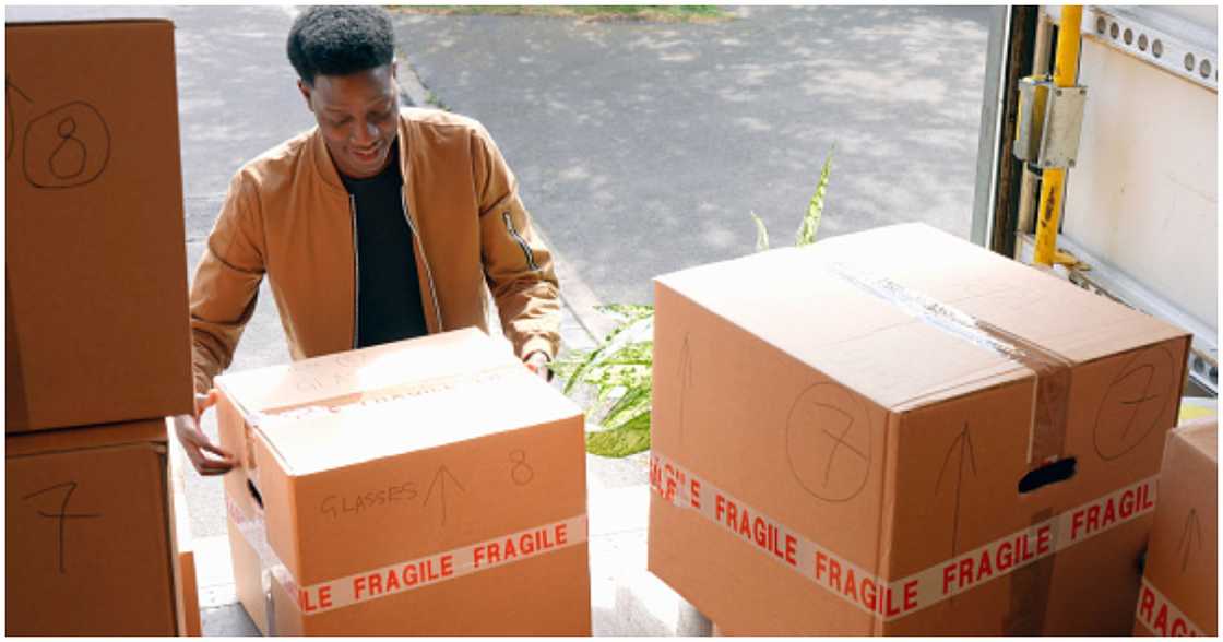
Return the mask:
<path id="1" fill-rule="evenodd" d="M 1217 6 L 1164 10 L 1217 29 Z M 1063 234 L 1217 334 L 1218 94 L 1084 35 Z"/>

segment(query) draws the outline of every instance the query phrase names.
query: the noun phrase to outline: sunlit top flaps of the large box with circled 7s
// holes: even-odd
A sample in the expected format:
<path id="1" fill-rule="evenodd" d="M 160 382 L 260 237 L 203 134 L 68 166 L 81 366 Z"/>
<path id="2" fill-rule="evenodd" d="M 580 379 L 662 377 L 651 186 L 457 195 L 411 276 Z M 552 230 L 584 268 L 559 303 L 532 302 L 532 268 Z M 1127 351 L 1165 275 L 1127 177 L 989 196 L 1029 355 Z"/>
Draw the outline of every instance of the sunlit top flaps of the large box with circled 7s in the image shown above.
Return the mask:
<path id="1" fill-rule="evenodd" d="M 883 275 L 1065 357 L 1185 333 L 922 224 L 763 252 L 658 279 L 877 404 L 901 410 L 1032 377 L 841 276 Z"/>

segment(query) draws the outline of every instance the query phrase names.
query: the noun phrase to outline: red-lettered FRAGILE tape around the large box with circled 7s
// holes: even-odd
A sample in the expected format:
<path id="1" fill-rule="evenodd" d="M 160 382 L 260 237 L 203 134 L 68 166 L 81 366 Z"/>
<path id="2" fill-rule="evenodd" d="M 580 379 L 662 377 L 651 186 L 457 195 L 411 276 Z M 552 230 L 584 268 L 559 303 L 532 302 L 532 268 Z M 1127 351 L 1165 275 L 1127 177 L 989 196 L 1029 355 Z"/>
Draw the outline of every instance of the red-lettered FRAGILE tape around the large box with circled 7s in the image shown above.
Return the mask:
<path id="1" fill-rule="evenodd" d="M 774 561 L 883 621 L 917 613 L 1065 550 L 1155 507 L 1156 477 L 998 538 L 907 577 L 889 581 L 812 542 L 674 461 L 651 455 L 649 485 L 700 512 Z"/>

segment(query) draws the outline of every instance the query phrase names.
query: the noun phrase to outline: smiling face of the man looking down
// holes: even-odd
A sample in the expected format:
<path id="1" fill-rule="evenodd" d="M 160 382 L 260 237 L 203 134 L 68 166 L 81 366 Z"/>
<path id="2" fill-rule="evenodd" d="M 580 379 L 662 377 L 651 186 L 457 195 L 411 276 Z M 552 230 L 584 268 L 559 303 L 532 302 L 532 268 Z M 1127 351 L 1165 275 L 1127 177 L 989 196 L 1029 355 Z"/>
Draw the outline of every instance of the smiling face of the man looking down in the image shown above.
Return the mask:
<path id="1" fill-rule="evenodd" d="M 297 87 L 341 174 L 368 179 L 386 166 L 399 131 L 394 64 L 347 76 L 319 75 L 314 87 L 298 79 Z"/>

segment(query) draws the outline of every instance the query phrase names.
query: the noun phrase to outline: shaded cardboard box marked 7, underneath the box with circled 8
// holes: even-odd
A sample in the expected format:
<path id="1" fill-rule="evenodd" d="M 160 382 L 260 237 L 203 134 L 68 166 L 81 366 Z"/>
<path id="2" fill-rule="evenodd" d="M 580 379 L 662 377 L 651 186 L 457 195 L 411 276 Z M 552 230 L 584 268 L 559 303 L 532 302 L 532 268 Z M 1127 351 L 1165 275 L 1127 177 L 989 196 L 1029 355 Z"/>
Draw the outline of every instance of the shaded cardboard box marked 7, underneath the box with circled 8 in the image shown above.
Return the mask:
<path id="1" fill-rule="evenodd" d="M 5 448 L 5 632 L 174 635 L 164 422 Z"/>

